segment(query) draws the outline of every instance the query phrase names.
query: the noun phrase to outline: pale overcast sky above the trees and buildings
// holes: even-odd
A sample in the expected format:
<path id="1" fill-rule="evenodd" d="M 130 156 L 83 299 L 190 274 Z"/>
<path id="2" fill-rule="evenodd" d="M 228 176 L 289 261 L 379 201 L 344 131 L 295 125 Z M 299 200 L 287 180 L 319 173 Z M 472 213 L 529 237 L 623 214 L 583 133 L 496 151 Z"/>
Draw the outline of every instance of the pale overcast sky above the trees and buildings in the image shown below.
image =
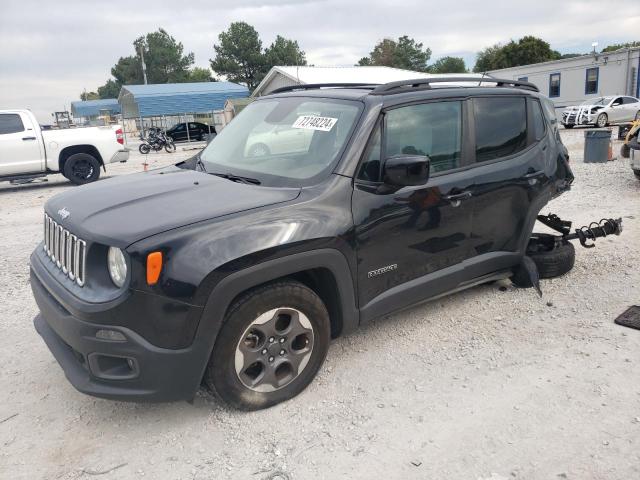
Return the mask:
<path id="1" fill-rule="evenodd" d="M 133 40 L 163 27 L 209 66 L 218 34 L 245 21 L 267 46 L 295 39 L 307 61 L 353 65 L 383 37 L 409 35 L 431 61 L 475 53 L 497 42 L 539 36 L 562 53 L 640 40 L 638 0 L 2 0 L 0 109 L 30 108 L 43 123 L 95 90 Z"/>

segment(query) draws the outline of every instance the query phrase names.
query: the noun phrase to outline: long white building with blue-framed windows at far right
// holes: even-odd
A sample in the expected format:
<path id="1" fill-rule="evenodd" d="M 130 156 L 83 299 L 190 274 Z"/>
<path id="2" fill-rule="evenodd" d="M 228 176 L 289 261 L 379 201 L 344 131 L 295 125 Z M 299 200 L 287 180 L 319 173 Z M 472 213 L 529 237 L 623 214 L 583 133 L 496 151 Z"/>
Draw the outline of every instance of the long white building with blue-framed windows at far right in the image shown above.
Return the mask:
<path id="1" fill-rule="evenodd" d="M 551 62 L 487 72 L 506 80 L 525 80 L 555 103 L 556 109 L 607 95 L 640 96 L 640 48 L 593 53 Z"/>

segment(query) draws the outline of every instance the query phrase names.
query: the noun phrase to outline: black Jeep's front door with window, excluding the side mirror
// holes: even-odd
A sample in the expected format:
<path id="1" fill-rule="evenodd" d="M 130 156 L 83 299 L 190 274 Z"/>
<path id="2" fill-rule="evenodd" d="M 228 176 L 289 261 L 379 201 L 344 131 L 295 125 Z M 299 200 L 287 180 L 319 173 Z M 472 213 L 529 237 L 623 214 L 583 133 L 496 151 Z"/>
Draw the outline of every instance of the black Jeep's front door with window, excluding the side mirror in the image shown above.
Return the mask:
<path id="1" fill-rule="evenodd" d="M 461 169 L 464 101 L 440 101 L 385 113 L 358 169 L 352 198 L 362 319 L 455 288 L 471 256 L 473 173 Z M 382 159 L 427 155 L 425 185 L 390 187 Z M 393 294 L 392 294 L 393 292 Z"/>

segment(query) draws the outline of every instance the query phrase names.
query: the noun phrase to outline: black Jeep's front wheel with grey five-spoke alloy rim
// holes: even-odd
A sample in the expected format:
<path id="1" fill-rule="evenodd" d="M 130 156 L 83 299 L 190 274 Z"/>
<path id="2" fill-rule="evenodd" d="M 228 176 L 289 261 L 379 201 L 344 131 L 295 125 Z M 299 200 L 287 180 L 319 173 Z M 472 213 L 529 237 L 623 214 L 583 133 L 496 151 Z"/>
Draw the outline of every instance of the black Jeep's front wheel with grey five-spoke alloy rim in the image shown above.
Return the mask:
<path id="1" fill-rule="evenodd" d="M 327 355 L 330 331 L 324 303 L 299 282 L 249 291 L 225 317 L 204 382 L 241 410 L 288 400 L 315 377 Z"/>

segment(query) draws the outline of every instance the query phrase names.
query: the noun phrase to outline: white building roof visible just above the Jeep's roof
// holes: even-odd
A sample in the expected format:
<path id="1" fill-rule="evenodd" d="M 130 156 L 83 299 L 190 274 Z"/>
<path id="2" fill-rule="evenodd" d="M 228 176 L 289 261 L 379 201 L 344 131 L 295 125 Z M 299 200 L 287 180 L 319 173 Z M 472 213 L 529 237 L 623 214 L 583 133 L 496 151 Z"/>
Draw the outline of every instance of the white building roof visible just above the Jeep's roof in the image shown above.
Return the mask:
<path id="1" fill-rule="evenodd" d="M 256 87 L 253 95 L 262 93 L 262 88 L 269 84 L 277 74 L 284 75 L 300 84 L 308 83 L 388 83 L 398 80 L 411 80 L 414 78 L 446 77 L 454 75 L 456 77 L 480 78 L 480 75 L 472 73 L 456 74 L 429 74 L 415 72 L 413 70 L 403 70 L 393 67 L 296 67 L 277 66 L 272 67 Z"/>

